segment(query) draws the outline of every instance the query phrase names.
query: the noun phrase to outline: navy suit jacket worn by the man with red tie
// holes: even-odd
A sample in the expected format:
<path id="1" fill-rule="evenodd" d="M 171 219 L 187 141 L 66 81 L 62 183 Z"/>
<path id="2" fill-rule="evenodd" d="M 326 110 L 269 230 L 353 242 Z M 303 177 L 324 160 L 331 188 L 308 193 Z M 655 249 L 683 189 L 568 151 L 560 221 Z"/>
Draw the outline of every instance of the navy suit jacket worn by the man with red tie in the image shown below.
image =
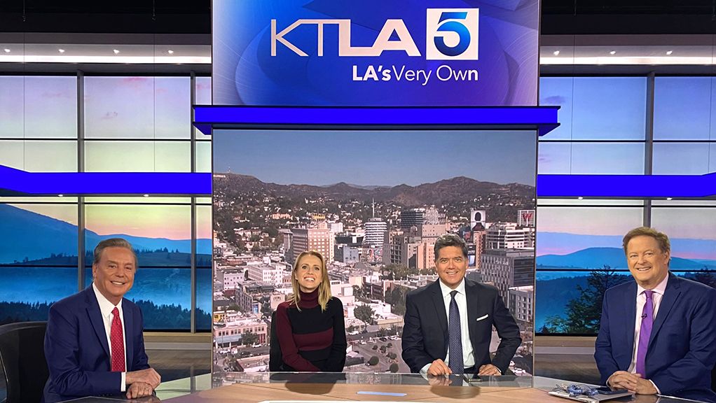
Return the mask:
<path id="1" fill-rule="evenodd" d="M 127 343 L 127 372 L 149 368 L 139 307 L 122 299 Z M 52 304 L 44 352 L 49 379 L 44 402 L 120 393 L 121 372 L 111 372 L 110 347 L 95 291 L 84 291 Z"/>

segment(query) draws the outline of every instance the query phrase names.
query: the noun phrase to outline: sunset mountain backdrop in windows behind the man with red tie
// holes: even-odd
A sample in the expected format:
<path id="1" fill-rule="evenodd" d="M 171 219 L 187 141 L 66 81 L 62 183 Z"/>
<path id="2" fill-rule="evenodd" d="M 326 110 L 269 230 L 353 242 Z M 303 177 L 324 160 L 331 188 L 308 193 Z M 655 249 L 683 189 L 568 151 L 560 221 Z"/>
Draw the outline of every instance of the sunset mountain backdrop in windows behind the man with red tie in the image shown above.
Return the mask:
<path id="1" fill-rule="evenodd" d="M 197 309 L 201 311 L 198 317 L 204 318 L 198 323 L 204 325 L 200 329 L 209 329 L 211 207 L 198 210 Z M 87 205 L 85 285 L 92 279 L 89 264 L 97 243 L 125 238 L 135 248 L 140 266 L 127 298 L 142 302 L 145 327 L 188 328 L 189 213 L 188 206 L 176 205 Z M 49 304 L 77 292 L 76 216 L 74 204 L 0 204 L 0 233 L 6 234 L 0 249 L 0 322 L 23 319 L 22 315 L 24 320 L 45 320 Z M 94 225 L 100 222 L 124 227 Z M 158 234 L 165 237 L 156 237 Z"/>

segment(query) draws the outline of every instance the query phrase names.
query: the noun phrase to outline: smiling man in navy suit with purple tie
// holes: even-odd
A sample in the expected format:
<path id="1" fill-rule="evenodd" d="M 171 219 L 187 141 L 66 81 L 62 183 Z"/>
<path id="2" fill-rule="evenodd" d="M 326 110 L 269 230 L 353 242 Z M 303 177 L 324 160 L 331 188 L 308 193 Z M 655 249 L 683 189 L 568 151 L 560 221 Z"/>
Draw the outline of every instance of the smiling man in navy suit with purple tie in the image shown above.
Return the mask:
<path id="1" fill-rule="evenodd" d="M 635 282 L 604 294 L 594 352 L 601 382 L 716 402 L 716 289 L 669 273 L 671 247 L 662 232 L 632 229 L 623 246 Z"/>

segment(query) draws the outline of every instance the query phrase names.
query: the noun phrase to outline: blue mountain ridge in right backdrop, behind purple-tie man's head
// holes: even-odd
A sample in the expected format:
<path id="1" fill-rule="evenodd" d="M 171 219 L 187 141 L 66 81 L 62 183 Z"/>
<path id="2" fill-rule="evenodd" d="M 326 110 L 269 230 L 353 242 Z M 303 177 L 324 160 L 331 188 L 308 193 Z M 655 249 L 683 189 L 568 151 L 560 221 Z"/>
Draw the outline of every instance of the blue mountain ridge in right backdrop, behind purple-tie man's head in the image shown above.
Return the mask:
<path id="1" fill-rule="evenodd" d="M 601 269 L 604 265 L 612 269 L 627 269 L 627 259 L 621 248 L 586 248 L 571 254 L 546 254 L 537 257 L 537 268 Z M 690 260 L 672 256 L 669 267 L 674 270 L 716 270 L 712 260 Z"/>

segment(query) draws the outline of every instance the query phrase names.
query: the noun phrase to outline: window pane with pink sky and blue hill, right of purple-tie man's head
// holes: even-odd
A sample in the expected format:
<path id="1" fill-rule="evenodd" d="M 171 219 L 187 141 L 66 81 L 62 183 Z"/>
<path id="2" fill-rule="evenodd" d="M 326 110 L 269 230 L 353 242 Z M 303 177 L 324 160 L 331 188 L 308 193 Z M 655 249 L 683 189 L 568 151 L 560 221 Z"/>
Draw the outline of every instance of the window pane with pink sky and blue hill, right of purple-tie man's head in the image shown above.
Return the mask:
<path id="1" fill-rule="evenodd" d="M 716 207 L 654 207 L 652 227 L 671 240 L 670 268 L 716 270 Z"/>

